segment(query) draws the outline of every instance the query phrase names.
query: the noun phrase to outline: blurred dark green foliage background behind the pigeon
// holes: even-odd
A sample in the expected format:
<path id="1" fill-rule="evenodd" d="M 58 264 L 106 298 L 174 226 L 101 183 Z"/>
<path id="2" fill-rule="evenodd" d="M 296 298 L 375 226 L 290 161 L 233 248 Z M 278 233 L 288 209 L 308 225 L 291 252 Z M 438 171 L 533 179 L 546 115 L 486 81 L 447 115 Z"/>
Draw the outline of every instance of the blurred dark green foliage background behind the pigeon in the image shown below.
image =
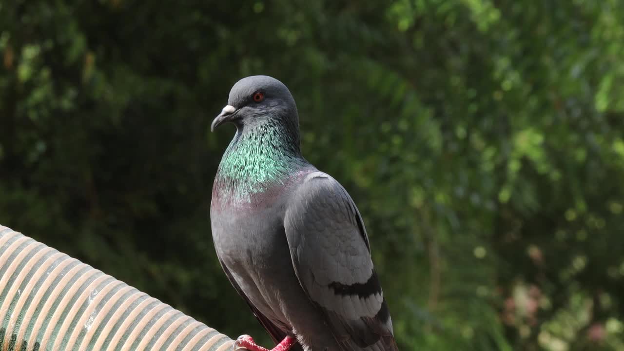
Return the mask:
<path id="1" fill-rule="evenodd" d="M 298 102 L 402 350 L 624 350 L 624 2 L 0 1 L 0 223 L 264 335 L 208 207 L 238 79 Z M 263 339 L 268 343 L 268 337 Z"/>

